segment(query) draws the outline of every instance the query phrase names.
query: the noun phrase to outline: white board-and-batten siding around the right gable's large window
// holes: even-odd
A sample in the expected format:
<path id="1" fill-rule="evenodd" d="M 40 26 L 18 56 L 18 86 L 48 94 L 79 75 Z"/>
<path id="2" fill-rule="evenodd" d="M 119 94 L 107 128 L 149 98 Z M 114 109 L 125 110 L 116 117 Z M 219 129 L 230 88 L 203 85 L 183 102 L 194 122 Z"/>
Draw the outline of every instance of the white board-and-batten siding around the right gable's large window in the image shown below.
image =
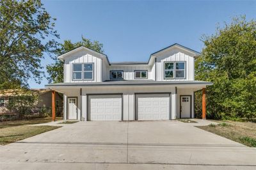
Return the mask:
<path id="1" fill-rule="evenodd" d="M 164 79 L 164 62 L 166 61 L 185 61 L 185 79 Z M 194 62 L 195 59 L 193 57 L 178 50 L 172 50 L 170 53 L 163 54 L 163 56 L 158 56 L 156 62 L 156 81 L 194 81 Z"/>

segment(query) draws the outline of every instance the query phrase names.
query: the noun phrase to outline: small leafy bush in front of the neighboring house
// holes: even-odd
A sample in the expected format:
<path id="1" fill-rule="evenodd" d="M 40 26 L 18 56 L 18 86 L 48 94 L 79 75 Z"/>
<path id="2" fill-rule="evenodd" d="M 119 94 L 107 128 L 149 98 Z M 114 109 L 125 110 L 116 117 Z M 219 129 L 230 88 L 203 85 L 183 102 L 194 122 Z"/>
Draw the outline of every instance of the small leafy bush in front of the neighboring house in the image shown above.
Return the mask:
<path id="1" fill-rule="evenodd" d="M 15 92 L 15 95 L 13 95 L 12 100 L 9 98 L 7 108 L 19 112 L 19 119 L 21 120 L 24 114 L 29 113 L 31 107 L 36 106 L 38 93 L 27 89 L 18 89 L 13 92 Z"/>

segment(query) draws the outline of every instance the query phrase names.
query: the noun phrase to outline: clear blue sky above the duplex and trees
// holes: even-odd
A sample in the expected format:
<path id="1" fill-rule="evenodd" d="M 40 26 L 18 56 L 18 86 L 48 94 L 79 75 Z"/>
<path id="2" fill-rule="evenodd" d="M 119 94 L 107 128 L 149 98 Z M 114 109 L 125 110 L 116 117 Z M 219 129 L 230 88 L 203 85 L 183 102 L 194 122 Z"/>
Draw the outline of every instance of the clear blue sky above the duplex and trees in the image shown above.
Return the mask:
<path id="1" fill-rule="evenodd" d="M 42 1 L 55 17 L 58 42 L 81 36 L 103 43 L 110 61 L 147 61 L 150 54 L 173 43 L 201 51 L 202 35 L 218 23 L 246 15 L 256 19 L 256 1 Z M 45 66 L 52 63 L 48 56 Z M 45 75 L 47 76 L 46 70 Z M 29 81 L 31 88 L 44 88 Z"/>

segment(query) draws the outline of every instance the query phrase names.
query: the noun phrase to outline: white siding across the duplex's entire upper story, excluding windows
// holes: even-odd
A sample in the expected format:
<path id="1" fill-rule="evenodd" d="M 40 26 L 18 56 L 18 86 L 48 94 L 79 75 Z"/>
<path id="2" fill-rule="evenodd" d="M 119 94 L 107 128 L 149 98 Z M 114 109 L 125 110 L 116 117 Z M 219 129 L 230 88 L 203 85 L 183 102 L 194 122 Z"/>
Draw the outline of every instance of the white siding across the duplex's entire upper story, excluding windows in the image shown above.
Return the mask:
<path id="1" fill-rule="evenodd" d="M 123 70 L 125 80 L 134 79 L 135 70 L 147 70 L 148 79 L 156 81 L 193 81 L 194 80 L 194 62 L 195 58 L 180 49 L 171 49 L 159 52 L 154 56 L 157 62 L 152 65 L 108 65 L 106 59 L 102 59 L 97 54 L 89 54 L 85 51 L 79 51 L 75 56 L 69 56 L 65 59 L 64 65 L 64 82 L 100 82 L 109 80 L 111 70 Z M 185 61 L 186 78 L 185 79 L 164 79 L 164 62 L 165 61 Z M 72 80 L 72 63 L 94 63 L 94 75 L 92 81 L 73 81 Z"/>

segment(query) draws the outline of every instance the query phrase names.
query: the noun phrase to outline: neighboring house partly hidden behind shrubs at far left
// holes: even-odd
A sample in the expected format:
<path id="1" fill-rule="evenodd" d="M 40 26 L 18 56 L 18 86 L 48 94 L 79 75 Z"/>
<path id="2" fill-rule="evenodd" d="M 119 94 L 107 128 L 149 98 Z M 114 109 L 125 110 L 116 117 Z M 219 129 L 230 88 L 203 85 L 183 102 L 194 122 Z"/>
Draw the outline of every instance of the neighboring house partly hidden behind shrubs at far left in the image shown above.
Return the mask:
<path id="1" fill-rule="evenodd" d="M 30 91 L 38 94 L 38 103 L 35 106 L 36 108 L 51 108 L 51 89 L 30 89 Z M 63 97 L 59 93 L 56 94 L 56 108 L 62 109 Z M 17 95 L 21 95 L 19 89 L 8 89 L 0 92 L 0 114 L 8 112 L 7 105 L 9 101 L 17 97 Z"/>

